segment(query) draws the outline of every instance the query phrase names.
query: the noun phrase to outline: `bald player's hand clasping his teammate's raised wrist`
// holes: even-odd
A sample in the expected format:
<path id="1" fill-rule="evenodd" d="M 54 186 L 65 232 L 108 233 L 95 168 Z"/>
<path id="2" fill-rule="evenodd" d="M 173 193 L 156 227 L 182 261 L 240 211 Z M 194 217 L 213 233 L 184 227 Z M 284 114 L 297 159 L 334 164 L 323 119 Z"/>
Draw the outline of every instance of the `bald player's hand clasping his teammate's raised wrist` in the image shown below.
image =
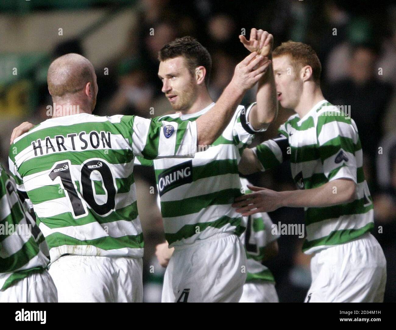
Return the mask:
<path id="1" fill-rule="evenodd" d="M 231 83 L 247 91 L 265 74 L 270 64 L 271 61 L 267 57 L 257 55 L 257 52 L 253 51 L 236 65 Z"/>

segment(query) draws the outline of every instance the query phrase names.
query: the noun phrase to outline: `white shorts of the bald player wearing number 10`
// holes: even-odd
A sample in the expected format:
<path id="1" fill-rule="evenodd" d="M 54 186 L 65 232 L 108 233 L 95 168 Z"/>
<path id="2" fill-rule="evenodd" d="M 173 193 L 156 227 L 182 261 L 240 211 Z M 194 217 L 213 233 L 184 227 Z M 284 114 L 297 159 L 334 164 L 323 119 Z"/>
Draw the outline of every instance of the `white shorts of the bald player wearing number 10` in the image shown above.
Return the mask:
<path id="1" fill-rule="evenodd" d="M 141 258 L 63 256 L 49 267 L 59 302 L 142 302 Z"/>

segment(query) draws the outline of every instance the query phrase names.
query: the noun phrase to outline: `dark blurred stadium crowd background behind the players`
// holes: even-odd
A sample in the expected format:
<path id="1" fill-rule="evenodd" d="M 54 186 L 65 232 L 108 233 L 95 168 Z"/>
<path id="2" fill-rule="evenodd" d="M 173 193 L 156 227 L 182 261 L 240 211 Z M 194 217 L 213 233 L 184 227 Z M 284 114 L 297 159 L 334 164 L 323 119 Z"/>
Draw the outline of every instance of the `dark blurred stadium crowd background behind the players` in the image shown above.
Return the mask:
<path id="1" fill-rule="evenodd" d="M 230 81 L 246 49 L 238 35 L 262 28 L 282 41 L 305 42 L 322 62 L 328 101 L 350 106 L 364 151 L 364 171 L 375 204 L 375 230 L 387 260 L 385 302 L 396 301 L 396 6 L 375 1 L 167 1 L 167 0 L 1 0 L 0 160 L 7 166 L 13 127 L 39 123 L 52 104 L 46 85 L 51 60 L 70 52 L 95 66 L 99 94 L 95 114 L 154 117 L 171 111 L 157 77 L 157 51 L 178 36 L 191 35 L 213 59 L 214 99 Z M 62 35 L 59 35 L 59 28 Z M 154 29 L 154 35 L 150 35 Z M 13 74 L 17 68 L 17 74 Z M 105 74 L 106 68 L 108 74 Z M 247 93 L 244 104 L 254 100 Z M 154 114 L 150 114 L 150 110 Z M 153 112 L 152 111 L 152 112 Z M 152 113 L 151 112 L 151 113 Z M 257 135 L 275 135 L 291 112 L 280 109 L 276 123 Z M 288 165 L 249 179 L 274 190 L 295 189 Z M 152 171 L 135 167 L 138 207 L 145 236 L 145 301 L 159 301 L 163 269 L 154 256 L 164 240 Z M 274 223 L 303 223 L 303 210 L 282 208 Z M 382 226 L 382 233 L 379 233 Z M 295 236 L 278 240 L 279 254 L 267 263 L 281 302 L 302 302 L 310 285 L 309 256 Z M 154 267 L 150 267 L 154 266 Z M 151 270 L 151 271 L 150 271 Z"/>

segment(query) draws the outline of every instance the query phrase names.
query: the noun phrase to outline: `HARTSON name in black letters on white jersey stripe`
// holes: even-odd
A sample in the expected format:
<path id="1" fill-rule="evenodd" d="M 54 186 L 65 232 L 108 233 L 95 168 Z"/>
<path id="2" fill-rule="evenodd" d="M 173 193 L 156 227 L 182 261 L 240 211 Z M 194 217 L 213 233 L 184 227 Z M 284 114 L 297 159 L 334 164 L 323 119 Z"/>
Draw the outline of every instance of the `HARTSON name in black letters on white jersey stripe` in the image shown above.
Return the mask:
<path id="1" fill-rule="evenodd" d="M 34 156 L 42 156 L 61 151 L 83 151 L 89 148 L 101 149 L 111 148 L 111 133 L 100 131 L 85 131 L 80 133 L 70 133 L 66 137 L 63 135 L 55 135 L 55 137 L 46 137 L 32 141 Z"/>

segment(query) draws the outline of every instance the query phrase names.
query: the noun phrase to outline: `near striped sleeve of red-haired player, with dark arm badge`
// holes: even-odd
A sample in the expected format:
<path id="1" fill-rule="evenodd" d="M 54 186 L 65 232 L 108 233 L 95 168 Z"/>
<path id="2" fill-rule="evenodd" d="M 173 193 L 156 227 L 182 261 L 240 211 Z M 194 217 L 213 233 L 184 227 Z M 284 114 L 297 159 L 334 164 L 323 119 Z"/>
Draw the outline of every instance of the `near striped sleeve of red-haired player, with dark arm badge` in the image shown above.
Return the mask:
<path id="1" fill-rule="evenodd" d="M 329 181 L 348 178 L 357 183 L 356 150 L 361 150 L 356 126 L 343 116 L 318 117 L 317 148 Z"/>

